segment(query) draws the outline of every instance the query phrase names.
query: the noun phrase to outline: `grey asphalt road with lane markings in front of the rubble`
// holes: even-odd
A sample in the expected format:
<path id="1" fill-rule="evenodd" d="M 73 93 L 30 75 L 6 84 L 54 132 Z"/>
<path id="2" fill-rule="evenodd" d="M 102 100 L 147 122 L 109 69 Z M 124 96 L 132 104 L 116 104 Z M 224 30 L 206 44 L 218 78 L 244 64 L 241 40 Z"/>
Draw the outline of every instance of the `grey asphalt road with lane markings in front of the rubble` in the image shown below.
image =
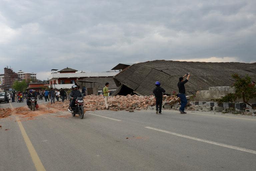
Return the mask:
<path id="1" fill-rule="evenodd" d="M 256 117 L 104 110 L 16 119 L 0 120 L 1 171 L 256 170 Z"/>

